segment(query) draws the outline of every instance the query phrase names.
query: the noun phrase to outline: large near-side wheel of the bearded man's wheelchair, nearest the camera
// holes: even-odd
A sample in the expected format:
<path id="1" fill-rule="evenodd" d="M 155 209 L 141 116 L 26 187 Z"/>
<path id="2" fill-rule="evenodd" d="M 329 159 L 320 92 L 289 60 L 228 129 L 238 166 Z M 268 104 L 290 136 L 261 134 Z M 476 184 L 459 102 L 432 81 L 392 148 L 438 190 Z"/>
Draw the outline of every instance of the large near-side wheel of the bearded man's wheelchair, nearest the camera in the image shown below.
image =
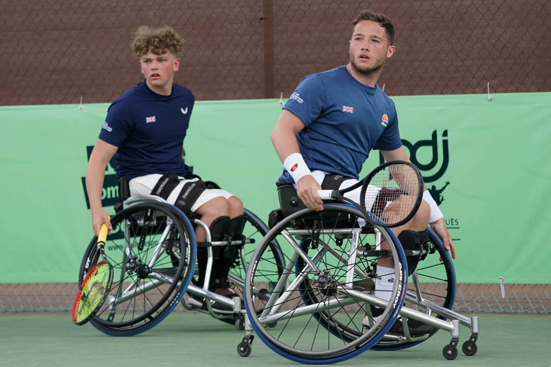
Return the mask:
<path id="1" fill-rule="evenodd" d="M 383 315 L 374 327 L 366 329 L 361 326 L 368 304 L 364 305 L 364 302 L 357 298 L 358 293 L 355 293 L 370 294 L 371 291 L 364 292 L 364 289 L 360 290 L 354 286 L 348 287 L 346 284 L 346 269 L 348 267 L 345 261 L 348 259 L 347 250 L 349 250 L 352 241 L 344 235 L 343 243 L 338 245 L 334 232 L 339 228 L 348 231 L 348 233 L 352 231 L 350 228 L 361 231 L 358 225 L 358 217 L 360 216 L 361 212 L 359 210 L 348 205 L 324 205 L 323 211 L 320 212 L 309 209 L 301 210 L 285 218 L 272 228 L 252 256 L 251 266 L 247 271 L 245 282 L 247 285 L 245 291 L 247 315 L 252 321 L 253 329 L 262 341 L 283 357 L 309 364 L 336 363 L 354 357 L 354 355 L 374 345 L 396 320 L 403 303 L 403 297 L 405 297 L 405 292 L 401 292 L 400 289 L 407 286 L 407 267 L 403 265 L 406 264 L 403 250 L 401 247 L 395 247 L 394 243 L 397 239 L 391 231 L 385 230 L 383 235 L 390 243 L 390 251 L 387 254 L 393 260 L 398 273 L 391 294 L 391 299 L 397 299 L 397 301 L 387 305 Z M 321 273 L 314 272 L 306 266 L 296 271 L 296 254 L 291 255 L 291 257 L 285 256 L 286 265 L 282 273 L 282 270 L 278 269 L 270 260 L 269 254 L 266 257 L 264 256 L 269 248 L 269 243 L 273 240 L 278 240 L 279 243 L 287 242 L 289 237 L 293 238 L 295 244 L 299 240 L 312 239 L 316 237 L 311 231 L 314 221 L 317 221 L 319 228 L 323 231 L 320 232 L 317 249 L 311 249 L 312 251 L 307 251 L 305 255 L 310 258 L 311 262 L 320 264 L 319 270 Z M 300 230 L 304 233 L 296 233 L 293 230 Z M 364 234 L 360 233 L 359 239 L 360 245 L 366 244 Z M 293 250 L 293 245 L 290 242 L 289 248 Z M 322 254 L 315 256 L 314 254 L 318 250 Z M 365 258 L 359 257 L 355 262 L 356 272 L 363 276 L 365 276 L 363 270 L 366 270 L 366 268 L 361 264 L 363 262 L 367 264 L 368 259 L 373 258 L 375 253 L 370 254 Z M 282 276 L 283 278 L 278 283 L 277 280 Z M 299 276 L 304 277 L 300 278 Z M 353 284 L 355 284 L 356 276 L 358 275 L 353 276 Z M 299 293 L 299 288 L 290 291 L 287 299 L 278 299 L 284 294 L 284 291 L 279 289 L 284 284 L 283 281 L 293 284 L 294 277 L 299 277 L 296 278 L 298 279 L 295 281 L 296 286 L 301 284 L 302 290 L 310 293 L 310 303 L 304 302 L 304 298 Z M 286 287 L 289 287 L 289 284 Z M 250 294 L 254 294 L 255 289 L 259 288 L 268 289 L 266 295 L 270 297 L 270 302 L 267 304 L 266 302 L 258 303 L 257 297 L 250 296 Z M 348 297 L 350 294 L 356 295 Z M 312 309 L 312 306 L 316 304 L 318 309 Z M 267 318 L 266 316 L 269 313 L 274 315 Z M 300 313 L 304 313 L 304 315 L 294 317 Z M 319 327 L 322 325 L 319 320 L 324 319 L 319 317 L 320 314 L 327 315 L 325 320 L 331 321 L 331 326 L 327 328 L 328 331 L 326 332 L 322 332 L 323 328 Z M 273 321 L 278 322 L 277 326 L 269 327 L 268 325 Z M 340 325 L 343 324 L 359 325 L 359 329 L 363 329 L 363 334 L 352 341 L 345 341 L 338 332 Z M 318 332 L 320 337 L 318 337 Z"/>

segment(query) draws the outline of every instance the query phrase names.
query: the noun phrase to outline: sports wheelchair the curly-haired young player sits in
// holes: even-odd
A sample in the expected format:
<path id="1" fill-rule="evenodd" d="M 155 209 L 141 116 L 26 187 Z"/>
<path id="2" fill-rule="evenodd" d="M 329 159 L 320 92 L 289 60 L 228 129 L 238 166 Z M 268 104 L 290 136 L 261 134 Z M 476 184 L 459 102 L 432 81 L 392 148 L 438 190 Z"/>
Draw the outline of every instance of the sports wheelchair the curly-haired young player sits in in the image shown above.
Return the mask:
<path id="1" fill-rule="evenodd" d="M 213 183 L 210 183 L 213 185 Z M 214 184 L 215 185 L 215 184 Z M 210 314 L 237 330 L 244 330 L 244 278 L 250 256 L 268 232 L 260 218 L 248 210 L 235 220 L 217 220 L 208 227 L 196 215 L 186 216 L 175 206 L 154 195 L 129 197 L 128 182 L 119 180 L 121 203 L 111 218 L 112 234 L 105 253 L 114 268 L 111 291 L 91 324 L 112 336 L 131 336 L 162 321 L 179 303 L 187 310 Z M 193 228 L 201 226 L 206 242 L 197 243 Z M 79 271 L 79 284 L 101 261 L 94 237 Z M 284 266 L 277 242 L 267 253 L 272 262 Z M 204 249 L 206 270 L 198 282 L 197 253 Z M 225 297 L 209 291 L 210 276 L 217 258 L 230 256 L 228 281 L 240 297 Z M 267 256 L 267 255 L 266 255 Z M 256 294 L 258 302 L 264 298 Z M 222 307 L 214 308 L 217 303 Z"/>

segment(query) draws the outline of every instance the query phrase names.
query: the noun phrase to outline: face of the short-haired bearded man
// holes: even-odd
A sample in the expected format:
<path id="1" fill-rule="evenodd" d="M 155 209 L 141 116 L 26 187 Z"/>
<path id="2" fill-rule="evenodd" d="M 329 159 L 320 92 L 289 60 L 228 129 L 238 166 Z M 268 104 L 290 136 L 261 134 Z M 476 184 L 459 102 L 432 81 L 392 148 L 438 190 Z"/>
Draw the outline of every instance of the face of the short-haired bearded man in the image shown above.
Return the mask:
<path id="1" fill-rule="evenodd" d="M 385 28 L 375 21 L 362 20 L 356 24 L 350 40 L 350 64 L 358 73 L 371 76 L 383 67 L 394 49 L 388 46 Z"/>

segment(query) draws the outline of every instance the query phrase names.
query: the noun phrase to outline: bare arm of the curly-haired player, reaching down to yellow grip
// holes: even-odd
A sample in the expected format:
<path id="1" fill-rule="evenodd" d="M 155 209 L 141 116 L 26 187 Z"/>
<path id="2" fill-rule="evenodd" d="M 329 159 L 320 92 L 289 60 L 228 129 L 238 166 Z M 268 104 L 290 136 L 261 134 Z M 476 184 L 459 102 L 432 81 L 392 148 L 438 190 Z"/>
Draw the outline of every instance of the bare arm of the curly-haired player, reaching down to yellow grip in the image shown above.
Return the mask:
<path id="1" fill-rule="evenodd" d="M 105 168 L 115 155 L 117 149 L 118 147 L 98 139 L 88 161 L 86 190 L 88 192 L 88 199 L 90 200 L 92 228 L 95 235 L 98 235 L 102 223 L 105 223 L 109 229 L 113 229 L 107 212 L 101 207 L 101 190 L 105 179 Z"/>

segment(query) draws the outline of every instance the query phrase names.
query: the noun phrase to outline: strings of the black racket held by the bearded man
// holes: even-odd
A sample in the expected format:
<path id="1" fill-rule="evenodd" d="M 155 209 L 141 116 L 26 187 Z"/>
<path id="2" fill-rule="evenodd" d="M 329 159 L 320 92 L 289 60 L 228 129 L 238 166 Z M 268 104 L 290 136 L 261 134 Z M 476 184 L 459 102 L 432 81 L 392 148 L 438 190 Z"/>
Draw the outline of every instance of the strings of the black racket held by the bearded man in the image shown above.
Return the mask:
<path id="1" fill-rule="evenodd" d="M 364 210 L 386 224 L 401 222 L 415 209 L 420 185 L 418 173 L 409 165 L 383 167 L 366 188 Z"/>

